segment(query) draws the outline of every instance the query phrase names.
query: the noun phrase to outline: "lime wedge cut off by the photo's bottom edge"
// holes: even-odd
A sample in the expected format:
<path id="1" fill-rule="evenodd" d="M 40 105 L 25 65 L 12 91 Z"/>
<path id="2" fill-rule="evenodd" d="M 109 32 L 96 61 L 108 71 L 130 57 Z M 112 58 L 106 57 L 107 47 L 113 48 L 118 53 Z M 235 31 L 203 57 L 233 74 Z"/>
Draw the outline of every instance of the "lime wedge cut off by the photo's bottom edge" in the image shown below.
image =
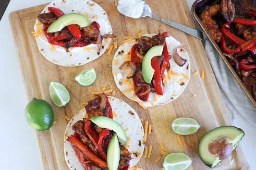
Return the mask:
<path id="1" fill-rule="evenodd" d="M 165 170 L 185 170 L 192 163 L 191 158 L 182 152 L 172 152 L 164 157 Z"/>

